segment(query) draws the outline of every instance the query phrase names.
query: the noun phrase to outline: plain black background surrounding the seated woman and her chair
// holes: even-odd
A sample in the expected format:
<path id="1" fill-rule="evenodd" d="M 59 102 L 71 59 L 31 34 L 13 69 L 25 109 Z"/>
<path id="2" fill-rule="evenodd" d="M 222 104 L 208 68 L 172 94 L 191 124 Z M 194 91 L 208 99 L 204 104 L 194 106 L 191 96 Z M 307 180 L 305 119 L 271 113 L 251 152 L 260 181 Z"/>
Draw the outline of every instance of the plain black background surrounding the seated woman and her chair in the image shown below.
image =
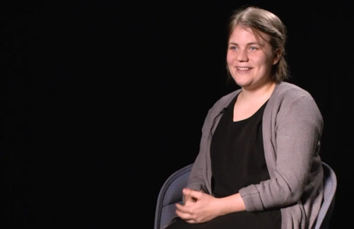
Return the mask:
<path id="1" fill-rule="evenodd" d="M 353 206 L 349 1 L 2 1 L 3 228 L 152 228 L 173 172 L 193 163 L 227 84 L 227 22 L 248 4 L 288 29 L 290 82 L 324 117 L 338 178 L 331 228 Z"/>

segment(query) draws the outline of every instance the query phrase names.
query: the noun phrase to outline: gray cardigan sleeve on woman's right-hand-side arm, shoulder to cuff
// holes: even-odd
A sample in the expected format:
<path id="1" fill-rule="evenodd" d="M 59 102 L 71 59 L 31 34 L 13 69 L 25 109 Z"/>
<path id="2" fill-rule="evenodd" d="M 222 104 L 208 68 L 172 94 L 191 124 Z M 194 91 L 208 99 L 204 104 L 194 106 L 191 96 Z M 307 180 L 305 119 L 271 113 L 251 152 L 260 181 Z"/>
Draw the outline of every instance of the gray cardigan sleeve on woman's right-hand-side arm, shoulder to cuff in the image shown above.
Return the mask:
<path id="1" fill-rule="evenodd" d="M 274 176 L 239 191 L 247 211 L 279 208 L 299 201 L 309 178 L 321 130 L 321 113 L 310 96 L 297 98 L 282 111 L 276 124 Z"/>

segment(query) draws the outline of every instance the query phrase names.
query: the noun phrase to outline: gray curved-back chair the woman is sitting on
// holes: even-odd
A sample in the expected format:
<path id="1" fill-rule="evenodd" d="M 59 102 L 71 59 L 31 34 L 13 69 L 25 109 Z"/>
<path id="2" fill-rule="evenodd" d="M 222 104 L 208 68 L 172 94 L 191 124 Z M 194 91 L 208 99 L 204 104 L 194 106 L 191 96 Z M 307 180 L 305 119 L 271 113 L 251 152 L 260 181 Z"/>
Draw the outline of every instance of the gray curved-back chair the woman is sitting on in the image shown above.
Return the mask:
<path id="1" fill-rule="evenodd" d="M 324 201 L 319 211 L 319 216 L 314 229 L 328 229 L 329 220 L 333 213 L 337 179 L 335 172 L 322 163 L 324 168 Z M 157 198 L 154 229 L 162 229 L 169 223 L 173 216 L 176 216 L 176 203 L 182 203 L 182 189 L 187 186 L 188 177 L 192 165 L 174 172 L 161 187 Z"/>

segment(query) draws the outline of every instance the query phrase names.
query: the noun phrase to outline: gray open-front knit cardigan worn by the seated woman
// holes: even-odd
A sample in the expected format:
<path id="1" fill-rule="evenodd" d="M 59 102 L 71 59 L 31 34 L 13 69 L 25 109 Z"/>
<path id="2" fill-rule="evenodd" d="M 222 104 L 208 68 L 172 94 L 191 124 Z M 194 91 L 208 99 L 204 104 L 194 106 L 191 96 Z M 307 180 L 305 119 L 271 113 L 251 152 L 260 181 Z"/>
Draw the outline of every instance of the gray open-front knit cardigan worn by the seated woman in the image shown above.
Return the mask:
<path id="1" fill-rule="evenodd" d="M 200 152 L 188 180 L 190 189 L 212 193 L 210 133 L 215 131 L 222 109 L 240 91 L 225 95 L 207 113 Z M 263 145 L 270 180 L 239 190 L 246 211 L 280 208 L 282 229 L 314 227 L 323 199 L 319 157 L 322 128 L 321 112 L 307 91 L 285 82 L 275 86 L 263 114 Z"/>

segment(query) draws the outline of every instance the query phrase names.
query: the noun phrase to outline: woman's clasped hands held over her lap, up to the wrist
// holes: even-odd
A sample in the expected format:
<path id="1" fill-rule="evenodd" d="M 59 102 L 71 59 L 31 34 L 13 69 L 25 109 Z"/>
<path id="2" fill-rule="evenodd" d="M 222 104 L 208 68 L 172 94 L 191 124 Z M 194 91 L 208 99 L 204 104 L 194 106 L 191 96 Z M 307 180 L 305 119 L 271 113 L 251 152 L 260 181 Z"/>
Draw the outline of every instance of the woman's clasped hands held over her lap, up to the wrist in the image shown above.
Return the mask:
<path id="1" fill-rule="evenodd" d="M 194 204 L 176 204 L 176 214 L 188 223 L 205 223 L 219 216 L 219 199 L 192 189 L 183 189 L 185 196 L 196 199 Z"/>

